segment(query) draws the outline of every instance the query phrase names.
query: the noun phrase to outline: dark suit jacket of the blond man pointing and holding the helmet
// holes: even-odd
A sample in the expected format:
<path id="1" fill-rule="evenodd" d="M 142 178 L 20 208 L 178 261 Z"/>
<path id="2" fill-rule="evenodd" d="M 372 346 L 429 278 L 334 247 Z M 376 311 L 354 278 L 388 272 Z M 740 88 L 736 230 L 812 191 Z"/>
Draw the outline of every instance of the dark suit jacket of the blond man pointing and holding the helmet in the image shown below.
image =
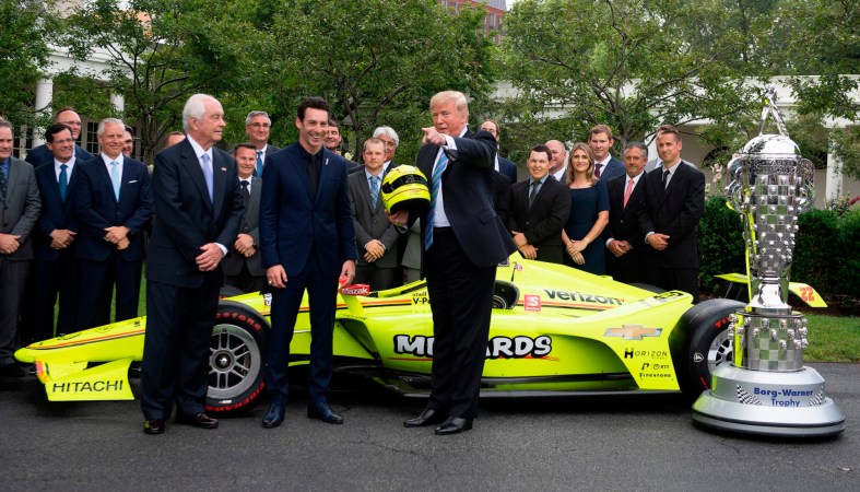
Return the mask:
<path id="1" fill-rule="evenodd" d="M 448 166 L 441 175 L 445 214 L 469 260 L 488 268 L 506 260 L 517 247 L 493 207 L 493 174 L 496 140 L 484 130 L 453 139 L 457 149 L 446 149 Z M 419 151 L 417 167 L 433 176 L 439 148 L 425 144 Z M 421 216 L 422 237 L 426 234 L 426 212 Z"/>

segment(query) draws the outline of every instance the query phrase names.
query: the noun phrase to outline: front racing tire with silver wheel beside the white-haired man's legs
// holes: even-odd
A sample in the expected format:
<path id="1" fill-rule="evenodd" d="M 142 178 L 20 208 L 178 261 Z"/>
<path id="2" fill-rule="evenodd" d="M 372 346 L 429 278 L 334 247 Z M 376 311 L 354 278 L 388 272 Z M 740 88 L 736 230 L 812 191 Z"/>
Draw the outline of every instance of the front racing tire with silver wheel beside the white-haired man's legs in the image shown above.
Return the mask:
<path id="1" fill-rule="evenodd" d="M 212 327 L 207 411 L 243 413 L 257 403 L 266 388 L 269 324 L 250 307 L 222 301 Z"/>

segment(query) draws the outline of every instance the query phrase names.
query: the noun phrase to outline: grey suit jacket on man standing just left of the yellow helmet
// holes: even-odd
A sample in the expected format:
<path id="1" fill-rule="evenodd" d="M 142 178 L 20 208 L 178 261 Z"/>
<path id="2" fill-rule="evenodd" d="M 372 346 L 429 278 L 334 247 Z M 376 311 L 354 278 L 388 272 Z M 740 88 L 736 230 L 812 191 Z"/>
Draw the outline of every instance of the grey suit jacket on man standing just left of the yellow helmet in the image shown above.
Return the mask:
<path id="1" fill-rule="evenodd" d="M 390 169 L 391 166 L 388 168 Z M 397 267 L 396 243 L 399 234 L 394 224 L 388 220 L 386 209 L 382 207 L 381 194 L 377 199 L 376 207 L 373 207 L 370 204 L 370 184 L 367 183 L 367 175 L 364 173 L 364 168 L 362 168 L 361 173 L 351 173 L 346 181 L 350 184 L 350 206 L 355 225 L 358 265 L 367 265 L 367 261 L 364 260 L 366 251 L 364 245 L 370 239 L 379 239 L 386 247 L 386 254 L 374 261 L 374 263 L 379 268 Z"/>

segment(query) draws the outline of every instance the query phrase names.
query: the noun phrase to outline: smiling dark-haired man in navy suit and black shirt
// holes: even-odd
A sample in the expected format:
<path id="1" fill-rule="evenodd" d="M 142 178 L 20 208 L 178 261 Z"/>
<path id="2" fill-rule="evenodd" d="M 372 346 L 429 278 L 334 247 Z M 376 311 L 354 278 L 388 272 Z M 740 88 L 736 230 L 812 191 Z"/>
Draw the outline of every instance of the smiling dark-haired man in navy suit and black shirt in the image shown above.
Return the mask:
<path id="1" fill-rule="evenodd" d="M 260 248 L 272 292 L 267 386 L 272 405 L 262 425 L 281 425 L 290 396 L 287 362 L 305 289 L 310 301 L 310 401 L 308 418 L 343 423 L 329 407 L 332 333 L 338 282 L 355 277 L 355 230 L 346 161 L 322 148 L 329 105 L 299 103 L 298 142 L 269 156 L 260 199 Z M 288 280 L 288 281 L 287 281 Z"/>

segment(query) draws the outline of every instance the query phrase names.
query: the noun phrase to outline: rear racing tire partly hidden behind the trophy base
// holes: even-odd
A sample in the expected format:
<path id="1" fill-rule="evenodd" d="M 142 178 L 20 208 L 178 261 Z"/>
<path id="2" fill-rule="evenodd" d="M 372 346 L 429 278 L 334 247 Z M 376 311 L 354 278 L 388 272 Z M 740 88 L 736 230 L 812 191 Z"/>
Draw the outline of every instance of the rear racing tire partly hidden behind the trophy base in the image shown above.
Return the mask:
<path id="1" fill-rule="evenodd" d="M 743 307 L 744 303 L 738 301 L 715 298 L 696 304 L 681 317 L 687 338 L 674 363 L 681 390 L 692 400 L 710 389 L 710 374 L 717 366 L 731 362 L 729 317 Z"/>

